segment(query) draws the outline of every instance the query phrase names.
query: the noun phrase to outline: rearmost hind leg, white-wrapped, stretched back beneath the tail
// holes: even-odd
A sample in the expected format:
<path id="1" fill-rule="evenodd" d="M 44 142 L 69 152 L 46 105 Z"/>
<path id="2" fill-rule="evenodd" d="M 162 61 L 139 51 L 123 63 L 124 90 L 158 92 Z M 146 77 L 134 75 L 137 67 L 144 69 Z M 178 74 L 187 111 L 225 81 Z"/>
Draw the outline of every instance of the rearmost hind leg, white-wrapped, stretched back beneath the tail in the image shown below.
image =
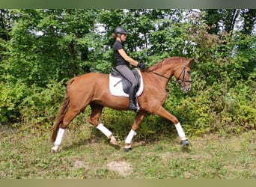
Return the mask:
<path id="1" fill-rule="evenodd" d="M 73 120 L 73 118 L 76 117 L 77 114 L 79 114 L 79 112 L 80 111 L 72 110 L 71 108 L 69 108 L 69 110 L 67 111 L 67 114 L 65 114 L 63 122 L 61 123 L 60 128 L 58 129 L 58 134 L 54 142 L 54 147 L 52 147 L 53 153 L 58 152 L 58 149 L 61 145 L 61 141 L 64 137 L 65 130 L 68 124 L 71 122 L 71 120 Z"/>

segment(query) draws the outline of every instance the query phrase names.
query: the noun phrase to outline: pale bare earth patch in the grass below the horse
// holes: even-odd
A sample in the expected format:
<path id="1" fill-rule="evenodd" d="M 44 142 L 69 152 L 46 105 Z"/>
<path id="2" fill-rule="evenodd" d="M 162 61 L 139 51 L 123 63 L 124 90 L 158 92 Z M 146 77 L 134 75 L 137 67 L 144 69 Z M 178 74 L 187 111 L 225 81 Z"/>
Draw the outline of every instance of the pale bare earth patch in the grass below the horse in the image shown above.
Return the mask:
<path id="1" fill-rule="evenodd" d="M 132 172 L 132 165 L 129 165 L 127 162 L 109 162 L 107 165 L 110 171 L 118 172 L 123 177 L 126 177 Z"/>

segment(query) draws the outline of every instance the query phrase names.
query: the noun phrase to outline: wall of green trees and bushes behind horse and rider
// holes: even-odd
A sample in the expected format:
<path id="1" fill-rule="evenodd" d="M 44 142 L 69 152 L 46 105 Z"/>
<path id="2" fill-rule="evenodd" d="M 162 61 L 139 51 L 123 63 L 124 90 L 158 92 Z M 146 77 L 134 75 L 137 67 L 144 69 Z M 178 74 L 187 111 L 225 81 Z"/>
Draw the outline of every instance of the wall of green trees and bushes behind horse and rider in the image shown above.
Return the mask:
<path id="1" fill-rule="evenodd" d="M 111 37 L 129 31 L 127 52 L 150 67 L 169 56 L 194 58 L 192 91 L 168 84 L 165 108 L 190 137 L 236 135 L 255 129 L 255 10 L 0 10 L 0 124 L 51 131 L 67 80 L 88 72 L 109 73 Z M 85 85 L 86 89 L 86 85 Z M 90 108 L 76 118 L 76 129 Z M 102 120 L 117 137 L 127 135 L 134 113 L 104 110 Z M 138 138 L 175 131 L 148 115 Z M 40 132 L 38 132 L 40 133 Z"/>

